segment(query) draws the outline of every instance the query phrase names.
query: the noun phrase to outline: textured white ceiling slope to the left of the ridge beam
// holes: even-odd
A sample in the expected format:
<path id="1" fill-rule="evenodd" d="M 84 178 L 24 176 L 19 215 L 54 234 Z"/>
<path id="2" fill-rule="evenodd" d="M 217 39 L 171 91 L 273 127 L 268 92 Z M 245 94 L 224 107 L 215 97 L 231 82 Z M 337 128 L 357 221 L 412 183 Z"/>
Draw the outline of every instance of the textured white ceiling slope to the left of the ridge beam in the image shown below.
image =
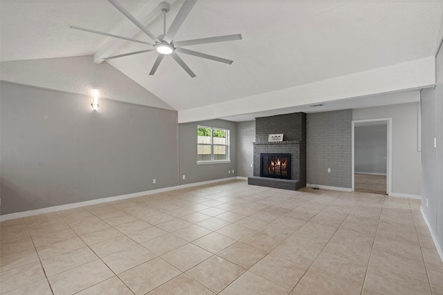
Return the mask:
<path id="1" fill-rule="evenodd" d="M 136 11 L 144 1 L 124 1 Z M 1 61 L 93 54 L 107 37 L 69 29 L 68 24 L 114 32 L 126 22 L 105 0 L 0 1 Z"/>

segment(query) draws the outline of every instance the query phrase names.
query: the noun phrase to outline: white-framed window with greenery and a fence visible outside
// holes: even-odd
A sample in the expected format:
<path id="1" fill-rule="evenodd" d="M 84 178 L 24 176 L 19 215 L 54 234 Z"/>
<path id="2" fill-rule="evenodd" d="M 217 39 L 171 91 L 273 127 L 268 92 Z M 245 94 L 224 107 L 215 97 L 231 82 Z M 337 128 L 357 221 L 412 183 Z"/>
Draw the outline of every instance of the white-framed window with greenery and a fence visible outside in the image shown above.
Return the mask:
<path id="1" fill-rule="evenodd" d="M 197 126 L 197 163 L 229 161 L 229 130 Z"/>

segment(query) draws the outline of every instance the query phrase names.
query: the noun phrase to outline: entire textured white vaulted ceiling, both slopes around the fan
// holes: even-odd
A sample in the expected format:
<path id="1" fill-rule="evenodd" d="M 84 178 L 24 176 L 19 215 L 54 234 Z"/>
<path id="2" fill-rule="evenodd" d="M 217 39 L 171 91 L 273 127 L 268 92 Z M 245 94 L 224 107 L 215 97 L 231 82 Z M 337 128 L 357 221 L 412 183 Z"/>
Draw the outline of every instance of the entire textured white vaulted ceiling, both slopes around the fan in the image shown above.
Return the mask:
<path id="1" fill-rule="evenodd" d="M 132 14 L 148 2 L 161 1 L 120 1 Z M 182 3 L 169 2 L 167 25 Z M 127 23 L 104 0 L 0 5 L 1 61 L 92 55 L 109 37 L 68 23 L 110 33 Z M 232 65 L 181 55 L 197 75 L 191 79 L 170 57 L 149 76 L 156 53 L 109 64 L 180 111 L 433 56 L 442 14 L 443 1 L 200 0 L 174 39 L 242 33 L 242 41 L 188 47 L 233 59 Z M 155 35 L 162 26 L 161 17 L 147 24 Z M 114 54 L 145 48 L 126 42 Z"/>

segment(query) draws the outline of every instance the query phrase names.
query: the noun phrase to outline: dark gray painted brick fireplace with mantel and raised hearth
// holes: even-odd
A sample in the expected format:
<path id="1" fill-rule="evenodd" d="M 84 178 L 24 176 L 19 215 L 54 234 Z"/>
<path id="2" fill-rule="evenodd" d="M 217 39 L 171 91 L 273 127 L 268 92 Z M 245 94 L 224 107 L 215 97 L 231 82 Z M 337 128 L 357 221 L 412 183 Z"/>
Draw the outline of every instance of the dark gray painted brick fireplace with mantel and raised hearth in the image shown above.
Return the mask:
<path id="1" fill-rule="evenodd" d="M 282 142 L 268 142 L 269 134 L 283 133 Z M 264 154 L 289 154 L 289 177 L 269 178 L 260 164 Z M 291 113 L 255 118 L 253 177 L 248 184 L 297 190 L 306 186 L 306 114 Z M 266 168 L 269 169 L 269 168 Z M 275 169 L 275 164 L 273 166 Z M 279 173 L 281 166 L 278 166 Z M 266 176 L 266 177 L 264 177 Z M 281 175 L 280 175 L 281 176 Z"/>

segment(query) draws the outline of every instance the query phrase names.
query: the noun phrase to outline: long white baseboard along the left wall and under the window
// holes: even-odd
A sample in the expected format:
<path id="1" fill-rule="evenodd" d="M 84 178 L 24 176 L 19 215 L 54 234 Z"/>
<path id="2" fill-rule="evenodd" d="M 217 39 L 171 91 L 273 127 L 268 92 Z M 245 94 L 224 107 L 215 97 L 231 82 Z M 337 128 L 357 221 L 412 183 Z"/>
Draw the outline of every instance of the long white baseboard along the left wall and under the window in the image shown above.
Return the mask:
<path id="1" fill-rule="evenodd" d="M 211 183 L 216 183 L 216 182 L 224 182 L 224 181 L 229 181 L 229 180 L 237 180 L 237 179 L 238 179 L 237 177 L 221 178 L 221 179 L 217 179 L 217 180 L 208 180 L 208 181 L 204 181 L 204 182 L 181 184 L 181 185 L 177 185 L 174 187 L 165 187 L 163 189 L 152 189 L 151 191 L 141 191 L 139 193 L 128 193 L 127 195 L 122 195 L 122 196 L 100 198 L 100 199 L 96 199 L 96 200 L 76 202 L 76 203 L 71 203 L 71 204 L 63 204 L 60 206 L 46 207 L 46 208 L 42 208 L 42 209 L 35 209 L 35 210 L 29 210 L 29 211 L 23 211 L 23 212 L 17 212 L 17 213 L 9 213 L 9 214 L 5 214 L 5 215 L 1 215 L 0 221 L 10 220 L 10 219 L 15 219 L 15 218 L 24 218 L 24 217 L 28 217 L 28 216 L 43 214 L 43 213 L 50 213 L 50 212 L 55 212 L 55 211 L 74 209 L 74 208 L 89 206 L 89 205 L 93 205 L 93 204 L 100 204 L 100 203 L 105 203 L 105 202 L 124 200 L 124 199 L 129 199 L 129 198 L 152 195 L 154 193 L 163 193 L 165 191 L 174 191 L 176 189 L 185 189 L 187 187 L 198 187 L 199 185 L 211 184 Z"/>

